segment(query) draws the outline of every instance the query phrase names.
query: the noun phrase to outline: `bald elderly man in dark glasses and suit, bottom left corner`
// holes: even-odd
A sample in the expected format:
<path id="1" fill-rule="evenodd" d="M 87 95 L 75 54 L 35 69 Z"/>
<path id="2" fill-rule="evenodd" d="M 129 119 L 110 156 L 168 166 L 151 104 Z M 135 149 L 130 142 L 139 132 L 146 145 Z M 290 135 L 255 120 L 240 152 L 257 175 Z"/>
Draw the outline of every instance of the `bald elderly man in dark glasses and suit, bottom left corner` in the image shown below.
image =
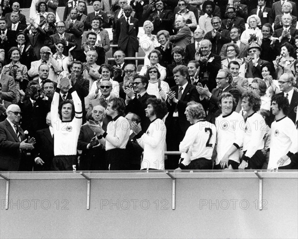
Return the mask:
<path id="1" fill-rule="evenodd" d="M 0 171 L 22 171 L 26 168 L 26 153 L 32 150 L 35 139 L 25 138 L 23 129 L 18 126 L 21 110 L 17 105 L 6 109 L 7 118 L 0 122 Z"/>

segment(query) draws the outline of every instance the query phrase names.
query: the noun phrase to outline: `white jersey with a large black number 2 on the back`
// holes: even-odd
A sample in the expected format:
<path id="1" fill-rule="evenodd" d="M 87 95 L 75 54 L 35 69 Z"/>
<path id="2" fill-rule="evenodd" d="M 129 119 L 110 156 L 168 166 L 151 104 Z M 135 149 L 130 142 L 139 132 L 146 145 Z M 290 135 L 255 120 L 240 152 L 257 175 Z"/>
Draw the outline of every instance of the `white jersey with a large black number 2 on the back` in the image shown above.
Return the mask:
<path id="1" fill-rule="evenodd" d="M 187 153 L 190 152 L 190 160 L 198 158 L 211 160 L 215 142 L 215 125 L 206 120 L 199 120 L 186 130 L 185 136 L 179 145 L 181 158 L 188 158 Z M 183 164 L 188 165 L 184 160 Z"/>

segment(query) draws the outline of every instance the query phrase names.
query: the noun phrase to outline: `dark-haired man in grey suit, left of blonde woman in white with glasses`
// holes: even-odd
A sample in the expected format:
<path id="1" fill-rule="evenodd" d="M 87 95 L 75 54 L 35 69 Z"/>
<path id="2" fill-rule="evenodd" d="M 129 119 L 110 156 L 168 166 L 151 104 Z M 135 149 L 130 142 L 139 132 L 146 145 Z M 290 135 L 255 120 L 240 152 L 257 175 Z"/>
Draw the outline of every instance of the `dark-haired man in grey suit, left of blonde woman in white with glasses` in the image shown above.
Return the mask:
<path id="1" fill-rule="evenodd" d="M 249 47 L 249 44 L 240 41 L 240 34 L 241 34 L 240 28 L 233 27 L 230 31 L 230 37 L 232 40 L 231 42 L 235 43 L 240 49 L 240 53 L 239 53 L 239 56 L 237 56 L 237 58 L 245 58 L 247 55 L 247 49 Z M 220 53 L 222 60 L 226 59 L 226 48 L 227 48 L 227 44 L 224 44 Z"/>

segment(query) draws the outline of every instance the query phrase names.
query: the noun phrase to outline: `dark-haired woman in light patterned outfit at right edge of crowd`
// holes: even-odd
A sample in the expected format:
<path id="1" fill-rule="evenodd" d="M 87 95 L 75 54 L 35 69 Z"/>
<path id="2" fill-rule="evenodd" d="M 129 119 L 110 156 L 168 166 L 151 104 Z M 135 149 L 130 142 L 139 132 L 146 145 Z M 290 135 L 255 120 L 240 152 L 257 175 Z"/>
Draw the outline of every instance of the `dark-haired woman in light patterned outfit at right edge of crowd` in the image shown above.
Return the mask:
<path id="1" fill-rule="evenodd" d="M 277 79 L 281 77 L 284 73 L 295 73 L 295 59 L 291 57 L 294 52 L 294 47 L 285 43 L 281 46 L 281 55 L 274 61 Z"/>

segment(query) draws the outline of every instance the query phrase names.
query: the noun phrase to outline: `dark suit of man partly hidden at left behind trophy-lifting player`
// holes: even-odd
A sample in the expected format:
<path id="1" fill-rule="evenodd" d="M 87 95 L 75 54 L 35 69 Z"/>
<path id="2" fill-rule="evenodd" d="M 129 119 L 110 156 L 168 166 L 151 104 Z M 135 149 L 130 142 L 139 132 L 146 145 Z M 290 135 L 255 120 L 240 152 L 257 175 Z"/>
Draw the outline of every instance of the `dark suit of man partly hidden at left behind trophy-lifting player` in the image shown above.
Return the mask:
<path id="1" fill-rule="evenodd" d="M 51 163 L 54 158 L 54 138 L 49 128 L 44 128 L 36 131 L 36 144 L 32 152 L 33 159 L 40 157 L 44 164 L 34 165 L 34 171 L 50 171 Z"/>

